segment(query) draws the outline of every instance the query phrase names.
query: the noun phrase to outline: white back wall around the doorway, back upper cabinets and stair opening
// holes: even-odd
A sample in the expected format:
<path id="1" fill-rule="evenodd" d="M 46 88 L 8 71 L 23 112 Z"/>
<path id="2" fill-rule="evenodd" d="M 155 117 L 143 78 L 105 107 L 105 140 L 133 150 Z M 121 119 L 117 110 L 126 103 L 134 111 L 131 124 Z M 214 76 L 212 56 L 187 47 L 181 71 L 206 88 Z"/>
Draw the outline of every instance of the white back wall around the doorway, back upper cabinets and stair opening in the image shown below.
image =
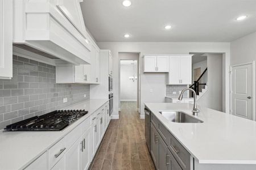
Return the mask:
<path id="1" fill-rule="evenodd" d="M 228 42 L 98 42 L 101 49 L 110 49 L 114 58 L 114 93 L 118 96 L 118 53 L 145 54 L 189 54 L 189 53 L 225 53 L 225 74 L 229 74 L 230 43 Z M 142 62 L 140 62 L 142 69 Z M 229 92 L 229 82 L 225 83 L 225 92 Z M 152 92 L 150 92 L 152 90 Z M 141 117 L 144 117 L 145 102 L 163 102 L 166 96 L 166 74 L 143 74 L 141 70 Z M 229 106 L 229 98 L 225 100 Z M 114 98 L 114 112 L 118 115 L 118 98 Z"/>

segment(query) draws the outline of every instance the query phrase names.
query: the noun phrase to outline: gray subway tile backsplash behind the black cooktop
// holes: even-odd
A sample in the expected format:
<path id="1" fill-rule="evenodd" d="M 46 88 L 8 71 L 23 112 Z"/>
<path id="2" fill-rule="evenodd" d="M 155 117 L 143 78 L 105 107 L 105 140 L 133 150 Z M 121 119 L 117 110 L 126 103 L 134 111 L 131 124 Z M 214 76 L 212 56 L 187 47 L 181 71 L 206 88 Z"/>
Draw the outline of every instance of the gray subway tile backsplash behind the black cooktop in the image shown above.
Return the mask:
<path id="1" fill-rule="evenodd" d="M 56 84 L 55 66 L 13 56 L 13 67 L 11 80 L 0 79 L 0 129 L 90 97 L 89 85 Z"/>

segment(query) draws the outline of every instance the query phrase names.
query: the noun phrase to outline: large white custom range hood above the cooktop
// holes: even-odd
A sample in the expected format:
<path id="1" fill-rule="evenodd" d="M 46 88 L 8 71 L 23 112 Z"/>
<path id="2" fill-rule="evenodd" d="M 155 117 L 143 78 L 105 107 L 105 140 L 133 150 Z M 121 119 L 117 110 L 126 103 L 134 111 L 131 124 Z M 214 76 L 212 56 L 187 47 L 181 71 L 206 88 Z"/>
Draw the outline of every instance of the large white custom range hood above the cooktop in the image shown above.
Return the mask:
<path id="1" fill-rule="evenodd" d="M 56 64 L 90 64 L 90 42 L 80 2 L 15 0 L 14 52 L 26 50 Z"/>

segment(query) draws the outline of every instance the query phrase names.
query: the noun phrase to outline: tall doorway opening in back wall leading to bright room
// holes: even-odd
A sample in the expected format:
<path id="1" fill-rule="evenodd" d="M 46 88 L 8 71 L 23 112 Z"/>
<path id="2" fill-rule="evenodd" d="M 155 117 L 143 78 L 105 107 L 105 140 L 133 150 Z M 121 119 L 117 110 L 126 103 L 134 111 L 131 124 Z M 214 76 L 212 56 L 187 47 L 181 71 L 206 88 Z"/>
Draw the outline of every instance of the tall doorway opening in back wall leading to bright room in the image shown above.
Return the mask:
<path id="1" fill-rule="evenodd" d="M 139 53 L 119 53 L 119 111 L 123 107 L 139 108 Z"/>

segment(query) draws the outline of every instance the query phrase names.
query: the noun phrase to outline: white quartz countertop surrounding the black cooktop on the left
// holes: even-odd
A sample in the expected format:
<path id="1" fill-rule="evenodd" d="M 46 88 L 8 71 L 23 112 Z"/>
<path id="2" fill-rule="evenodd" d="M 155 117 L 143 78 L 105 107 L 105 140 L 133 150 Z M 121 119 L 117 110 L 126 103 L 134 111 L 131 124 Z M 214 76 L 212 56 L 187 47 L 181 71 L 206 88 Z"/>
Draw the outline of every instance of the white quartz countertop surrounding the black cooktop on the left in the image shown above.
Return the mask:
<path id="1" fill-rule="evenodd" d="M 69 131 L 104 105 L 108 99 L 86 100 L 63 109 L 85 109 L 89 111 L 63 131 L 0 131 L 0 169 L 23 169 L 53 146 Z"/>

